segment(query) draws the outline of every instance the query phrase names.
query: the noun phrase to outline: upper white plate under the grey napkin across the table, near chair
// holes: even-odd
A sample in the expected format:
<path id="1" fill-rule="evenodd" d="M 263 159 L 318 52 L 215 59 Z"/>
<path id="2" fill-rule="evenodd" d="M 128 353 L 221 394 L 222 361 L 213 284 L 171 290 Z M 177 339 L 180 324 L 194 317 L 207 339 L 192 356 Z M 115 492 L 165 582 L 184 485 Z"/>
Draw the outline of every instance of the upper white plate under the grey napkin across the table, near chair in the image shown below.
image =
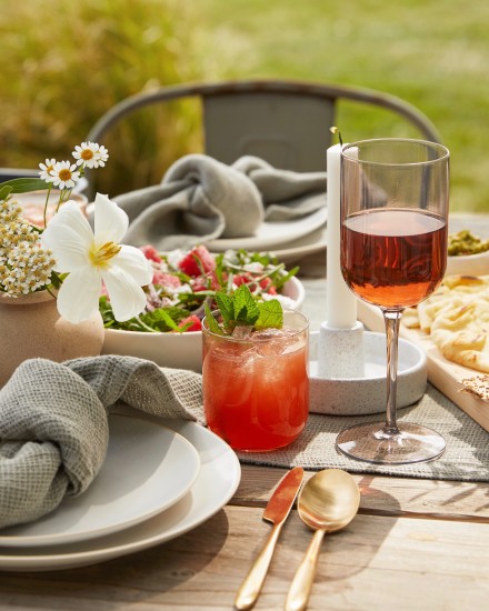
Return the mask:
<path id="1" fill-rule="evenodd" d="M 228 249 L 244 248 L 250 251 L 275 250 L 277 247 L 299 240 L 303 236 L 312 233 L 325 224 L 328 218 L 326 207 L 316 210 L 302 219 L 290 221 L 263 222 L 256 236 L 248 238 L 222 238 L 207 242 L 207 248 L 212 252 L 223 252 Z"/>

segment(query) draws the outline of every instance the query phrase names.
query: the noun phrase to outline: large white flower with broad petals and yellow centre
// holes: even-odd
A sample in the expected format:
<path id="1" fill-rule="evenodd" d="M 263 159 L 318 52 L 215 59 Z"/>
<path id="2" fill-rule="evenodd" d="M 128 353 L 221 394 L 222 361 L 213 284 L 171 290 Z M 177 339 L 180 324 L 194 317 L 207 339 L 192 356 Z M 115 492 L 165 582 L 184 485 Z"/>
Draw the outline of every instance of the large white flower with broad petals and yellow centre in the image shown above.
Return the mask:
<path id="1" fill-rule="evenodd" d="M 144 310 L 142 287 L 153 270 L 144 254 L 120 240 L 128 216 L 108 197 L 97 193 L 94 232 L 79 207 L 68 201 L 41 236 L 57 261 L 54 269 L 69 276 L 58 293 L 58 311 L 72 323 L 89 319 L 99 308 L 102 281 L 116 320 L 124 321 Z"/>

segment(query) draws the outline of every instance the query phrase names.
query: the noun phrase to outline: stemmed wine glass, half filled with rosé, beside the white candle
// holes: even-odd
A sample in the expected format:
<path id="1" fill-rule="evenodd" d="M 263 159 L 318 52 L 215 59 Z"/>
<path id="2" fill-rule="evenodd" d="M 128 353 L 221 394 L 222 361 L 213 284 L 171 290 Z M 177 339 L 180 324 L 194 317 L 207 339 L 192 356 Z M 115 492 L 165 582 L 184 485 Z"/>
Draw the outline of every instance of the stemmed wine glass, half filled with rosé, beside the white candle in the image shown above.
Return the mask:
<path id="1" fill-rule="evenodd" d="M 350 427 L 336 447 L 383 464 L 439 457 L 445 439 L 396 419 L 399 323 L 441 282 L 447 266 L 449 151 L 423 140 L 385 138 L 341 152 L 341 271 L 349 288 L 378 306 L 387 334 L 385 423 Z"/>

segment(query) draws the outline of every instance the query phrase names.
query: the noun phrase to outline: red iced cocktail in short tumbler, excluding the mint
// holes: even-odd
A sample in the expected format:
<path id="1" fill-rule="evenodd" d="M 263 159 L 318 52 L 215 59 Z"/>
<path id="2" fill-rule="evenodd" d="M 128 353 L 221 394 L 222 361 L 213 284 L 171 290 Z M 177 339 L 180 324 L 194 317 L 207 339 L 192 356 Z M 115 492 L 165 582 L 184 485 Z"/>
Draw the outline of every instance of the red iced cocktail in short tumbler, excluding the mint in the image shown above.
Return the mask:
<path id="1" fill-rule="evenodd" d="M 285 310 L 279 328 L 237 324 L 203 337 L 203 405 L 209 428 L 231 448 L 268 451 L 292 442 L 309 413 L 308 320 Z"/>

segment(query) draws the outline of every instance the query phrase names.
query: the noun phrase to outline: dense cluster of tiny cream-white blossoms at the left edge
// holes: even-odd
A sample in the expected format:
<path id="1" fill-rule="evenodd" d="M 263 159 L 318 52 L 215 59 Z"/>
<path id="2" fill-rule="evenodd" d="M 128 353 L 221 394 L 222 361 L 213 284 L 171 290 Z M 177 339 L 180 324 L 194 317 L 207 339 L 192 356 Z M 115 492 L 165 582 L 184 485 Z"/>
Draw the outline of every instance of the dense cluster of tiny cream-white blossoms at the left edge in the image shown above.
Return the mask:
<path id="1" fill-rule="evenodd" d="M 12 297 L 48 284 L 54 267 L 52 252 L 39 244 L 39 233 L 21 213 L 16 201 L 0 202 L 0 289 Z"/>

